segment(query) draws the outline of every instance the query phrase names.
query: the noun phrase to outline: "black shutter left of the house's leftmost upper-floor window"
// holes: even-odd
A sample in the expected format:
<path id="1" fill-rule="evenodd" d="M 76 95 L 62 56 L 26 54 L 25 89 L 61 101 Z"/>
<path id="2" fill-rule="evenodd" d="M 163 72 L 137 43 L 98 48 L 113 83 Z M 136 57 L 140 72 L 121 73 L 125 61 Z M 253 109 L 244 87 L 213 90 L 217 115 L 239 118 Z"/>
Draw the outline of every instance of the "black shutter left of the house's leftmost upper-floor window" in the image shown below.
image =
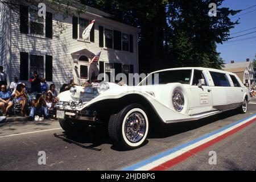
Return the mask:
<path id="1" fill-rule="evenodd" d="M 20 5 L 19 6 L 19 28 L 20 33 L 28 34 L 28 7 Z"/>

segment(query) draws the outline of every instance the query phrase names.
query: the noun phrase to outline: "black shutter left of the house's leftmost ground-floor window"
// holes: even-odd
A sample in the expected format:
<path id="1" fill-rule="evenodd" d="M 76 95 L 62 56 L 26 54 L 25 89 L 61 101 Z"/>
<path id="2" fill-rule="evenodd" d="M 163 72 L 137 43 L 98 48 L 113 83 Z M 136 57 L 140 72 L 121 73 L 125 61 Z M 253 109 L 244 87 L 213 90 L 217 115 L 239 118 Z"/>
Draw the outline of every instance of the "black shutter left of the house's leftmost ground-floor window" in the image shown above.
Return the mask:
<path id="1" fill-rule="evenodd" d="M 28 53 L 20 52 L 19 79 L 28 80 Z"/>

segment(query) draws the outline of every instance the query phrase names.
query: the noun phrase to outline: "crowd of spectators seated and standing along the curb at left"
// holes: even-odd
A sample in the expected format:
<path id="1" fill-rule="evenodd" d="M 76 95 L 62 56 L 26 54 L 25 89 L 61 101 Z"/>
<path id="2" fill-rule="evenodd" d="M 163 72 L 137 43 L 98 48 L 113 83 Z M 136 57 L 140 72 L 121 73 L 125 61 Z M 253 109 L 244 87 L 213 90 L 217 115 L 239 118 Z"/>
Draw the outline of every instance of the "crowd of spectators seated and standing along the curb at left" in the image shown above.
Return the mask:
<path id="1" fill-rule="evenodd" d="M 28 120 L 36 119 L 51 119 L 54 117 L 50 114 L 57 102 L 57 91 L 55 84 L 48 85 L 45 78 L 39 76 L 37 71 L 29 79 L 31 87 L 28 88 L 23 82 L 19 82 L 18 77 L 14 77 L 14 81 L 7 85 L 6 73 L 3 72 L 3 67 L 0 66 L 0 110 L 3 116 L 8 117 L 10 114 L 15 114 L 15 106 L 19 105 L 20 114 L 28 117 Z M 60 93 L 69 90 L 75 85 L 73 80 L 68 84 L 63 84 L 60 88 Z"/>

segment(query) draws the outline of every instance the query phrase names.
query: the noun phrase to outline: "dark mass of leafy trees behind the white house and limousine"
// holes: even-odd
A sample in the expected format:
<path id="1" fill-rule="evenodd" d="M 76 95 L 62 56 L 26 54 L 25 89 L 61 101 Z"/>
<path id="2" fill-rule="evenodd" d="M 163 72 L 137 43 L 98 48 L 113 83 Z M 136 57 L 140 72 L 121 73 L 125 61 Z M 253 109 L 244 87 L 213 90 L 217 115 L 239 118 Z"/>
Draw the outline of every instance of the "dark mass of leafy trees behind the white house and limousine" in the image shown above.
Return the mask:
<path id="1" fill-rule="evenodd" d="M 160 68 L 201 66 L 221 69 L 224 61 L 216 43 L 229 39 L 238 24 L 230 15 L 238 11 L 220 8 L 223 0 L 94 0 L 82 1 L 141 28 L 139 63 L 142 72 Z M 216 3 L 217 16 L 208 16 L 209 3 Z"/>

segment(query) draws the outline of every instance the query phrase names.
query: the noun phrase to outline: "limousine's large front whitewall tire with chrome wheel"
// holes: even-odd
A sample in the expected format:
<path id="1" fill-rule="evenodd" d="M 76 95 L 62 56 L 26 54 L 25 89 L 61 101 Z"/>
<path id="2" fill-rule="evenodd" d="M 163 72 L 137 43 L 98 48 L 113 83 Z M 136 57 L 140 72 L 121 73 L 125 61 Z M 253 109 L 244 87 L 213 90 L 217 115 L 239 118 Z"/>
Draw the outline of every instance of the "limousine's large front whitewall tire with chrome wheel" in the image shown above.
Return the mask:
<path id="1" fill-rule="evenodd" d="M 143 106 L 131 104 L 109 119 L 109 136 L 118 147 L 141 147 L 148 134 L 148 117 Z"/>

